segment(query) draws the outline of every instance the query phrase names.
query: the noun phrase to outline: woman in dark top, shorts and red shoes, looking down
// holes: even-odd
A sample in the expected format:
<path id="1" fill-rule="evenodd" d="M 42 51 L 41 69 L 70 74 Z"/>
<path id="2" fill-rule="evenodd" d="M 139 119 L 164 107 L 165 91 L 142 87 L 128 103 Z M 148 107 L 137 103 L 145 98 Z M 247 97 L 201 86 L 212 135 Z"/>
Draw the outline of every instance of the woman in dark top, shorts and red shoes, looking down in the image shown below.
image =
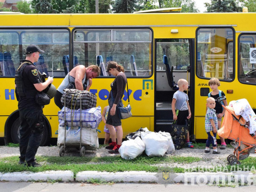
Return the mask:
<path id="1" fill-rule="evenodd" d="M 124 74 L 122 66 L 118 65 L 116 61 L 109 61 L 107 71 L 116 76 L 115 80 L 110 84 L 111 92 L 109 94 L 109 113 L 106 118 L 106 127 L 110 131 L 112 143 L 106 146 L 110 150 L 110 154 L 118 154 L 119 147 L 122 144 L 123 130 L 121 119 L 118 116 L 117 106 L 123 106 L 122 97 L 126 87 L 127 79 Z M 113 126 L 115 126 L 116 130 Z M 116 143 L 117 138 L 117 143 Z"/>

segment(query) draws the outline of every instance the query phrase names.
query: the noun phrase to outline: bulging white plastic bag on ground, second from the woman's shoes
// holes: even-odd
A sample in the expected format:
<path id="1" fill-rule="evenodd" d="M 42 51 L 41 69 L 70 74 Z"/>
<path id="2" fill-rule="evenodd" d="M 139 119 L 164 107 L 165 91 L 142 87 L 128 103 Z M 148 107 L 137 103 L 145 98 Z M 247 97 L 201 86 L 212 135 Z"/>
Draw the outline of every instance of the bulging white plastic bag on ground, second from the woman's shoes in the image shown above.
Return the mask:
<path id="1" fill-rule="evenodd" d="M 141 139 L 145 143 L 147 156 L 164 156 L 169 147 L 169 139 L 160 133 L 141 132 Z"/>

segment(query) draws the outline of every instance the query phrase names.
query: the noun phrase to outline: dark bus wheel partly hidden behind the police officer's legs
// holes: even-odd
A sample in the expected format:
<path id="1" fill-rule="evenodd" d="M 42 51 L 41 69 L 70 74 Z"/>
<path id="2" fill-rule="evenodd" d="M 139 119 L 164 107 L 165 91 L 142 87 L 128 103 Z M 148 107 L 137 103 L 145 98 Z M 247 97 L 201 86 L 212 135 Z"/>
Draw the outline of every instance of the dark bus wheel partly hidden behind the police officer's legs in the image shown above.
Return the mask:
<path id="1" fill-rule="evenodd" d="M 47 126 L 45 127 L 46 128 L 42 132 L 42 139 L 40 142 L 40 146 L 45 146 L 48 141 L 48 129 L 47 129 Z M 20 122 L 19 122 L 19 118 L 17 118 L 12 124 L 12 128 L 11 128 L 11 138 L 13 143 L 19 143 L 19 137 L 20 137 L 19 129 L 20 129 Z"/>

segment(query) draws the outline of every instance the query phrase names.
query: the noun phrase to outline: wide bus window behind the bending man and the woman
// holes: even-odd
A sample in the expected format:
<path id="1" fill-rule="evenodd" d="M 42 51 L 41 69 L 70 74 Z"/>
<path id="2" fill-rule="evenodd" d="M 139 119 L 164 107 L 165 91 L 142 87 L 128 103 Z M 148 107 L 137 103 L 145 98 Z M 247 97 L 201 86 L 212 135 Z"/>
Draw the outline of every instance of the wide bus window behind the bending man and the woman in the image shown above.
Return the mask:
<path id="1" fill-rule="evenodd" d="M 115 60 L 124 67 L 126 76 L 150 76 L 151 38 L 150 30 L 76 29 L 73 55 L 77 56 L 79 65 L 86 67 L 95 65 L 100 56 L 98 58 L 102 58 L 100 62 L 105 66 L 102 69 L 106 69 L 109 60 Z"/>

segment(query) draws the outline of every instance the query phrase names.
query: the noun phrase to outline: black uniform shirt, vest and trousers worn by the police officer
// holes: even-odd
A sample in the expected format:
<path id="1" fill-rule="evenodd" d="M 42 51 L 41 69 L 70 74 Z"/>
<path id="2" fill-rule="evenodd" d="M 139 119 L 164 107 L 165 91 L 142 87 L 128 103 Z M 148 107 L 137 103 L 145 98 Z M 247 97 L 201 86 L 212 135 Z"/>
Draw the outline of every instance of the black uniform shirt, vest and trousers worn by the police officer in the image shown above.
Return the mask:
<path id="1" fill-rule="evenodd" d="M 35 102 L 35 95 L 38 91 L 35 89 L 34 84 L 41 83 L 42 78 L 31 61 L 24 60 L 23 62 L 28 62 L 28 65 L 22 72 L 25 96 L 18 96 L 20 120 L 19 158 L 20 161 L 26 160 L 28 165 L 33 165 L 42 136 L 42 130 L 36 129 L 36 127 L 38 123 L 44 126 L 42 108 Z"/>

